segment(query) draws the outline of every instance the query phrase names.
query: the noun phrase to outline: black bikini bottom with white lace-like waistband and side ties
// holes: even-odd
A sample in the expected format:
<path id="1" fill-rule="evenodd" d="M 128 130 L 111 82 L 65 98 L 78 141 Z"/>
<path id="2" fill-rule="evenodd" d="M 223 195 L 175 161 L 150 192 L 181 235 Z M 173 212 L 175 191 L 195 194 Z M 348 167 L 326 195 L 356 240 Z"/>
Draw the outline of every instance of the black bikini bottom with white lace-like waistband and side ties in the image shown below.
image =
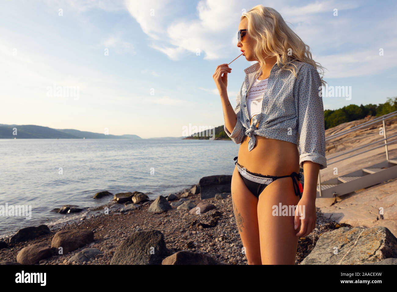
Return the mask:
<path id="1" fill-rule="evenodd" d="M 251 193 L 254 194 L 254 196 L 257 197 L 258 199 L 259 199 L 259 195 L 262 193 L 264 188 L 266 188 L 271 182 L 274 182 L 278 178 L 288 177 L 288 176 L 264 176 L 263 174 L 259 174 L 256 172 L 250 172 L 237 162 L 237 156 L 233 160 L 236 161 L 235 164 L 237 164 L 237 170 L 239 171 L 239 174 L 243 179 L 245 185 L 251 191 Z M 299 199 L 301 199 L 303 192 L 303 187 L 301 184 L 302 175 L 293 172 L 289 176 L 292 178 L 295 195 L 299 196 Z M 294 179 L 294 177 L 297 178 L 299 184 Z"/>

